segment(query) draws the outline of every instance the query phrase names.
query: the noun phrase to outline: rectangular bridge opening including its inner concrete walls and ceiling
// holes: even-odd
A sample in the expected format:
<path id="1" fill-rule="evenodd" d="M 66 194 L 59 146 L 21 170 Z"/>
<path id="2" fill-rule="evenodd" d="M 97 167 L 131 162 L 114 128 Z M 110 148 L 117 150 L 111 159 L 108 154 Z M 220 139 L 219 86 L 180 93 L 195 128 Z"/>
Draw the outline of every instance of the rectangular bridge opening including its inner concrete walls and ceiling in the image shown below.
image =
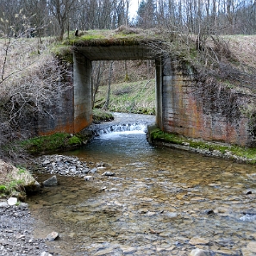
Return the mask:
<path id="1" fill-rule="evenodd" d="M 162 62 L 148 47 L 76 47 L 73 56 L 74 133 L 91 124 L 93 108 L 153 114 L 161 126 Z M 115 96 L 125 100 L 122 108 Z"/>

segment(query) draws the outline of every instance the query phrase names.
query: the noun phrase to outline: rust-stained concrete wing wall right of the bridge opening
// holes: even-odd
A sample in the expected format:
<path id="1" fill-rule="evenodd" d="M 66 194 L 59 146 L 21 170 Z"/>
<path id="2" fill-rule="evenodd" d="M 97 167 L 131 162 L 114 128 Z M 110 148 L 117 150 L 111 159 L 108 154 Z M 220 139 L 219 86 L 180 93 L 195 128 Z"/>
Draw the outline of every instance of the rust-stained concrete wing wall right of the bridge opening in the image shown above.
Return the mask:
<path id="1" fill-rule="evenodd" d="M 164 63 L 162 130 L 240 146 L 251 143 L 247 117 L 241 116 L 239 120 L 230 122 L 222 112 L 213 109 L 206 113 L 203 97 L 197 96 L 196 82 L 189 67 L 174 66 L 171 58 L 166 58 Z"/>

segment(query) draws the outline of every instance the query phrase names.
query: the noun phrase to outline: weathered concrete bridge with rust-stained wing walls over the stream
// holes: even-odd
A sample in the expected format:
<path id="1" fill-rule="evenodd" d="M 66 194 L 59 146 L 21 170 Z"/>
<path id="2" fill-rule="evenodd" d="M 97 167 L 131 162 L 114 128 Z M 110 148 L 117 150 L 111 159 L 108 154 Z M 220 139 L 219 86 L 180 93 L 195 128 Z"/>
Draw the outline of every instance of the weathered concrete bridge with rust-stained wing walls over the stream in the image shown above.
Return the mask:
<path id="1" fill-rule="evenodd" d="M 195 84 L 189 66 L 180 66 L 172 57 L 155 56 L 150 48 L 108 45 L 77 46 L 73 51 L 72 90 L 56 96 L 55 118 L 39 121 L 39 134 L 78 133 L 92 122 L 92 60 L 154 59 L 156 78 L 156 123 L 165 132 L 191 138 L 223 141 L 246 146 L 252 139 L 247 117 L 230 122 L 222 113 L 206 113 L 203 103 L 193 93 Z"/>

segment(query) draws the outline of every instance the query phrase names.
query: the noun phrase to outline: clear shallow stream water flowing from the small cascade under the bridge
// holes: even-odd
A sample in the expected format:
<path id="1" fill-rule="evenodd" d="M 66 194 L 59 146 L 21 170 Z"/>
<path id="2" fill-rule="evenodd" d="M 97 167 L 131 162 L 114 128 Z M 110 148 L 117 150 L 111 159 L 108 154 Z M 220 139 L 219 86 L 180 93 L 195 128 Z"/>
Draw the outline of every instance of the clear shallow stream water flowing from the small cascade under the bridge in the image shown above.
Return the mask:
<path id="1" fill-rule="evenodd" d="M 155 148 L 144 129 L 128 128 L 66 154 L 105 165 L 89 181 L 58 177 L 59 186 L 28 198 L 35 236 L 59 232 L 54 255 L 256 253 L 254 165 Z"/>

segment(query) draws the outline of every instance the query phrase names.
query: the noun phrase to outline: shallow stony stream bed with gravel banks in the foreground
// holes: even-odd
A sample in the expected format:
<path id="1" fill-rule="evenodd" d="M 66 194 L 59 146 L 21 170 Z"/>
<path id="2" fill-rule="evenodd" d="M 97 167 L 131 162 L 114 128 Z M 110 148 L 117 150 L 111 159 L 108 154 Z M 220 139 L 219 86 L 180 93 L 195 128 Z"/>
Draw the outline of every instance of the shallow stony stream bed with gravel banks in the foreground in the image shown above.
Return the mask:
<path id="1" fill-rule="evenodd" d="M 168 150 L 34 159 L 39 195 L 0 203 L 0 255 L 256 255 L 255 168 Z"/>

